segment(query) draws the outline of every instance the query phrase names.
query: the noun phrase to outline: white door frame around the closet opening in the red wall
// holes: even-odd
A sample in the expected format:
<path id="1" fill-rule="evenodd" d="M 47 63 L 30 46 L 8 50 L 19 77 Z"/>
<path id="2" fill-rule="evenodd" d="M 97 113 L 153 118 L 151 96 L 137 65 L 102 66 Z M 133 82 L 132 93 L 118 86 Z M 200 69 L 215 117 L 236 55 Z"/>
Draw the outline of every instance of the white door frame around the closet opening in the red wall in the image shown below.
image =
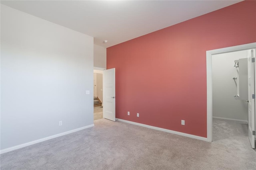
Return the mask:
<path id="1" fill-rule="evenodd" d="M 212 142 L 212 55 L 255 49 L 256 43 L 206 51 L 207 141 Z M 254 73 L 255 74 L 255 73 Z M 255 74 L 256 75 L 256 74 Z"/>

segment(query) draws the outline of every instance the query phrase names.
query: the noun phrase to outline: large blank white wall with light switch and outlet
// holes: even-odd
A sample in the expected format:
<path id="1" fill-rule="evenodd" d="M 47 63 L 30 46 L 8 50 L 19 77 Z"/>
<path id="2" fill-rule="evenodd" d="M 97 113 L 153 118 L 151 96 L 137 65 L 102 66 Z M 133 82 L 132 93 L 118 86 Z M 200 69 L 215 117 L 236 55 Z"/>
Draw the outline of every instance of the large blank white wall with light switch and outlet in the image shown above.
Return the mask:
<path id="1" fill-rule="evenodd" d="M 93 37 L 1 5 L 1 150 L 93 125 L 93 49 Z"/>

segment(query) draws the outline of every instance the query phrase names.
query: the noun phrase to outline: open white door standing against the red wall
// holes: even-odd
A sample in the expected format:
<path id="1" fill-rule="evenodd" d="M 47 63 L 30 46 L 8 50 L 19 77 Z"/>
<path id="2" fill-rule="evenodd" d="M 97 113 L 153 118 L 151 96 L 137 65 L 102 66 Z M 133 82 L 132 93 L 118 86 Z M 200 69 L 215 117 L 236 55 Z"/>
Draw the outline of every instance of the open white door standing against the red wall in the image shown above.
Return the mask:
<path id="1" fill-rule="evenodd" d="M 103 118 L 116 121 L 115 68 L 103 70 Z"/>

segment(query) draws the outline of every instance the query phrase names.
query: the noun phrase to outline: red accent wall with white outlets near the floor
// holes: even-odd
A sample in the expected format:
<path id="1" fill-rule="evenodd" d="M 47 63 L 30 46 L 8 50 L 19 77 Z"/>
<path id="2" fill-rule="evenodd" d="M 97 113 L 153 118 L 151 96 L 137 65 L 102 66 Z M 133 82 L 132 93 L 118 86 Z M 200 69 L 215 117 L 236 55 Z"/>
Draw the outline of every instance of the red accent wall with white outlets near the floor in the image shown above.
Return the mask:
<path id="1" fill-rule="evenodd" d="M 207 137 L 206 51 L 256 42 L 255 9 L 243 1 L 107 48 L 116 117 Z"/>

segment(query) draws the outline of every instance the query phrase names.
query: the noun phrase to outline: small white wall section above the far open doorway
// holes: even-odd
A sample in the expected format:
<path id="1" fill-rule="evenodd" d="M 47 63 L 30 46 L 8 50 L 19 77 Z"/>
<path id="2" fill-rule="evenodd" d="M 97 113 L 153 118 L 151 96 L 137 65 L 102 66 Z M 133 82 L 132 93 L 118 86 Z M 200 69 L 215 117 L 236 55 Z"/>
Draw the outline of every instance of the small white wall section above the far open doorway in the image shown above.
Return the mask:
<path id="1" fill-rule="evenodd" d="M 94 67 L 107 68 L 107 49 L 94 44 Z"/>

